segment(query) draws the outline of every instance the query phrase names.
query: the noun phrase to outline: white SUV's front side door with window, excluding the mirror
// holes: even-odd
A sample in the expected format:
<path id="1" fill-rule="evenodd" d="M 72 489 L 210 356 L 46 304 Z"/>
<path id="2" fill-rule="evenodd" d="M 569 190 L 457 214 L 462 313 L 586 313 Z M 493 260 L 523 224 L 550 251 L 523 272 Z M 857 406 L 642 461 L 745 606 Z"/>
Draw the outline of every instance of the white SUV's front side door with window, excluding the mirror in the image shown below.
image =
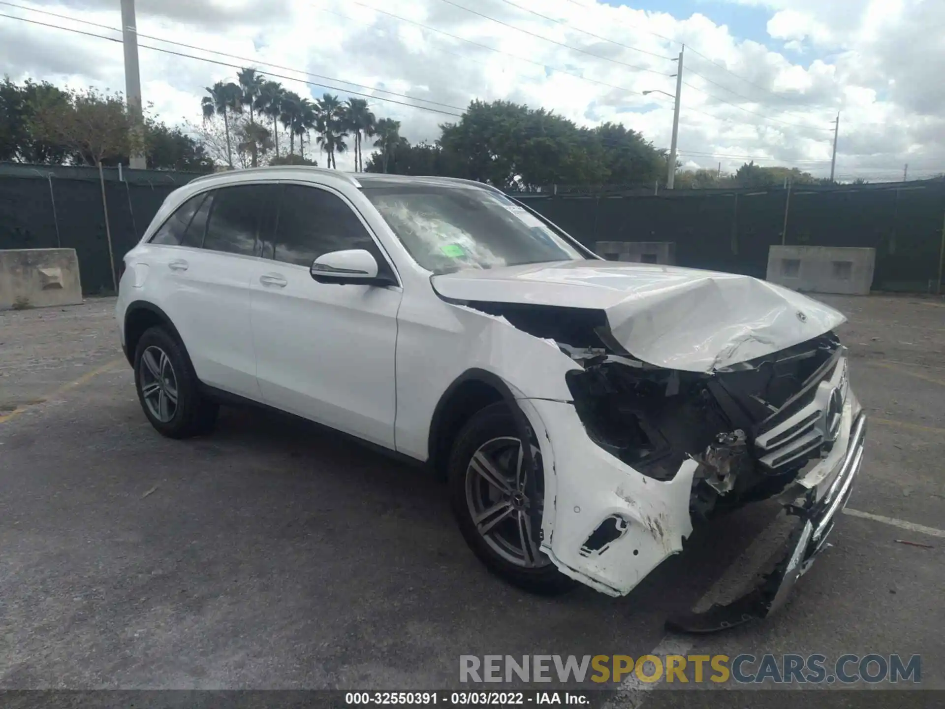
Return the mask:
<path id="1" fill-rule="evenodd" d="M 256 377 L 266 404 L 394 447 L 394 353 L 399 285 L 316 282 L 323 253 L 386 256 L 347 199 L 327 187 L 283 183 L 271 257 L 252 281 Z"/>

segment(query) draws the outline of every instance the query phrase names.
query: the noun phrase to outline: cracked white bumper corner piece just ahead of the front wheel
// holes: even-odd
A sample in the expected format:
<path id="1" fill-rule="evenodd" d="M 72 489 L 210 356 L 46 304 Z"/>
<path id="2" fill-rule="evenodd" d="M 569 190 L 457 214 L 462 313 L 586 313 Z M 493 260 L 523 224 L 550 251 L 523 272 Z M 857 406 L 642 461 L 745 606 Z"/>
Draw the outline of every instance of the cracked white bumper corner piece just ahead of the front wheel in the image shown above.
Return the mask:
<path id="1" fill-rule="evenodd" d="M 572 404 L 519 404 L 541 444 L 541 551 L 566 576 L 609 596 L 626 595 L 692 533 L 696 461 L 685 460 L 672 480 L 655 480 L 595 445 Z"/>

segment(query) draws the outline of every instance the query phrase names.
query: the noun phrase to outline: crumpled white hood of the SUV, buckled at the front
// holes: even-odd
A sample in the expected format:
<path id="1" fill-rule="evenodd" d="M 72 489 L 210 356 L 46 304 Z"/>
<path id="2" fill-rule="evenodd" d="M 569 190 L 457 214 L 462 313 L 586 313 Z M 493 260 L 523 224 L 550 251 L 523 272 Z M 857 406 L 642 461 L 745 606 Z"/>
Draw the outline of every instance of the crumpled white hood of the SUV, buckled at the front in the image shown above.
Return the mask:
<path id="1" fill-rule="evenodd" d="M 780 285 L 696 268 L 567 261 L 468 269 L 431 280 L 451 300 L 603 310 L 630 355 L 687 372 L 769 355 L 846 320 Z"/>

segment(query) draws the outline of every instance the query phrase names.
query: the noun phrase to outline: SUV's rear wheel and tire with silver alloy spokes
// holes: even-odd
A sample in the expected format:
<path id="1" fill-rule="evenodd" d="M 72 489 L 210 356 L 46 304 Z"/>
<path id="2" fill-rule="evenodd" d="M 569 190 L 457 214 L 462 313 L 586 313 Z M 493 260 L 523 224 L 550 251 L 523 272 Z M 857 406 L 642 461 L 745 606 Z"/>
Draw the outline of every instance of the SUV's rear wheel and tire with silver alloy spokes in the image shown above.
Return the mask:
<path id="1" fill-rule="evenodd" d="M 160 325 L 138 340 L 134 386 L 147 420 L 163 436 L 187 439 L 214 429 L 219 406 L 200 395 L 183 343 Z"/>

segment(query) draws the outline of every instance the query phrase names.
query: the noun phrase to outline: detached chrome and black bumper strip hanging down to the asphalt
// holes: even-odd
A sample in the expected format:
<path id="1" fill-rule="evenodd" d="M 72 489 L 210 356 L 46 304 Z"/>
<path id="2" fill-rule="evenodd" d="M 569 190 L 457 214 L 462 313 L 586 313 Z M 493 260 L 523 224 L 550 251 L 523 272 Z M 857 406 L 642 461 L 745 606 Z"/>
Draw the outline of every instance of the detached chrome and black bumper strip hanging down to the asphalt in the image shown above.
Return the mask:
<path id="1" fill-rule="evenodd" d="M 798 524 L 788 537 L 773 570 L 747 595 L 726 605 L 714 605 L 705 613 L 682 614 L 666 621 L 667 630 L 714 632 L 740 625 L 755 618 L 765 618 L 782 607 L 798 579 L 814 563 L 827 545 L 836 514 L 850 499 L 853 478 L 863 462 L 867 417 L 860 413 L 851 426 L 849 445 L 838 472 L 817 488 L 812 488 L 788 506 Z"/>

